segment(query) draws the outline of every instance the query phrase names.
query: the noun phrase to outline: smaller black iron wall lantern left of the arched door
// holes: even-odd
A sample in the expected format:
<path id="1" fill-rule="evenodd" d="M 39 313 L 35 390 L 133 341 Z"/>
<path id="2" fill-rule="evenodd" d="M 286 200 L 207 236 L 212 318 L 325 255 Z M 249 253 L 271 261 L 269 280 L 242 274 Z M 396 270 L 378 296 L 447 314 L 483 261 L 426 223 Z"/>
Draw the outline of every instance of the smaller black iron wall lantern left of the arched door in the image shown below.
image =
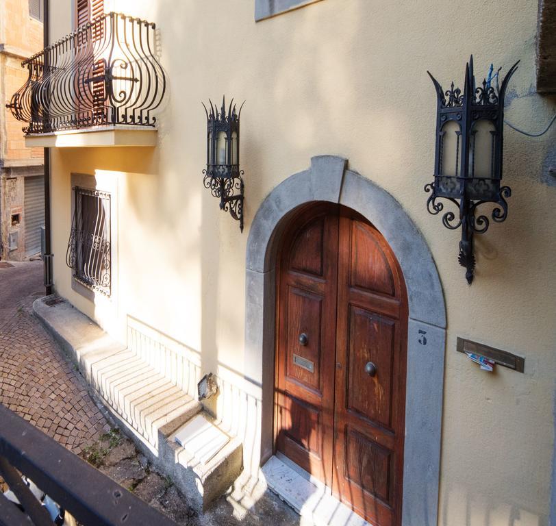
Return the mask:
<path id="1" fill-rule="evenodd" d="M 226 113 L 226 101 L 218 112 L 209 99 L 210 110 L 203 103 L 207 114 L 207 169 L 203 170 L 203 184 L 220 199 L 220 210 L 229 212 L 240 222 L 243 231 L 243 170 L 240 170 L 240 110 L 233 99 Z"/>

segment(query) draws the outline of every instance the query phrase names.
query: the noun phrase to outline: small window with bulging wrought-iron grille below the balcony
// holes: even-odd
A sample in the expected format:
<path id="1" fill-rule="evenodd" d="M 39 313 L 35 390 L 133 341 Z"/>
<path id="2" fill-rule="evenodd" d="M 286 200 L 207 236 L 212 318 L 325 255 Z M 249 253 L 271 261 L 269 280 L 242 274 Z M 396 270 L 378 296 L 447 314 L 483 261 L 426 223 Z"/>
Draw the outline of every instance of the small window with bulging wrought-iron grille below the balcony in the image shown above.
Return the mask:
<path id="1" fill-rule="evenodd" d="M 74 192 L 66 264 L 75 281 L 110 296 L 110 193 L 79 186 Z"/>

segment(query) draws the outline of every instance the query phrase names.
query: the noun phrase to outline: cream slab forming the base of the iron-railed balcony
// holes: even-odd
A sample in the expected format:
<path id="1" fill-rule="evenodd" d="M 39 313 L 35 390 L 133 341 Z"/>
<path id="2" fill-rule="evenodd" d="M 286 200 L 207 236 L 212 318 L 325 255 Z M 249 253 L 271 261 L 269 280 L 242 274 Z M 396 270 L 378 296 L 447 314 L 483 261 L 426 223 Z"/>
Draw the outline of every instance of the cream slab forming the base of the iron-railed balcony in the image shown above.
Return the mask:
<path id="1" fill-rule="evenodd" d="M 155 147 L 157 129 L 139 126 L 103 126 L 69 129 L 25 136 L 28 148 Z"/>

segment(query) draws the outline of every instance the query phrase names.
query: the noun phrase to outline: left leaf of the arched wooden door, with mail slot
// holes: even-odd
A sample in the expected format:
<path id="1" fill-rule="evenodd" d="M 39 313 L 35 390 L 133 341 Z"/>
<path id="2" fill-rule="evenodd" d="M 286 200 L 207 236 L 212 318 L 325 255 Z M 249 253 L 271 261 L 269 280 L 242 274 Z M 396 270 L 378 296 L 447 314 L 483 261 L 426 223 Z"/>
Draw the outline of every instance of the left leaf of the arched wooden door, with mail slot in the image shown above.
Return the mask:
<path id="1" fill-rule="evenodd" d="M 276 448 L 331 486 L 338 212 L 296 216 L 284 234 L 277 299 Z M 300 342 L 301 334 L 305 335 Z"/>

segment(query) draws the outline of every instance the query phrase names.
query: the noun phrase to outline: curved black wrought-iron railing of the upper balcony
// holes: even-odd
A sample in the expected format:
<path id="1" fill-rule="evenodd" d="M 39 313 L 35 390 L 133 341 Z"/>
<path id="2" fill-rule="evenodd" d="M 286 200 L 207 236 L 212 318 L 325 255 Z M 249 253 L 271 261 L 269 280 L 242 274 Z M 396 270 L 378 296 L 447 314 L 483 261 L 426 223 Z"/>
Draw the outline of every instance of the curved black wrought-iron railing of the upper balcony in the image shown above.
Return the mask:
<path id="1" fill-rule="evenodd" d="M 108 13 L 22 62 L 27 82 L 7 108 L 26 134 L 154 126 L 166 91 L 155 24 Z"/>

